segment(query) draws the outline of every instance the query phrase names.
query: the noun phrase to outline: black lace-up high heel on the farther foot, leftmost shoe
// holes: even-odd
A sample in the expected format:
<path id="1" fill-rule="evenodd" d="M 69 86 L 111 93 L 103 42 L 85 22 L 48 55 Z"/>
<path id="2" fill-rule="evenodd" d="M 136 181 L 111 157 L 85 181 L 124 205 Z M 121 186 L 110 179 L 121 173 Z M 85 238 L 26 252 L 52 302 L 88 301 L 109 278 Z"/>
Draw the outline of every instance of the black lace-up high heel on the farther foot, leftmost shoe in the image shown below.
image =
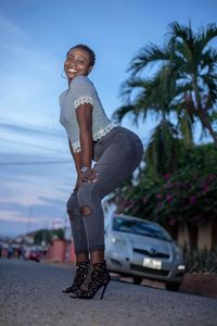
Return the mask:
<path id="1" fill-rule="evenodd" d="M 71 287 L 63 290 L 64 293 L 71 293 L 72 296 L 80 288 L 86 279 L 90 263 L 79 262 L 76 263 L 75 278 Z"/>

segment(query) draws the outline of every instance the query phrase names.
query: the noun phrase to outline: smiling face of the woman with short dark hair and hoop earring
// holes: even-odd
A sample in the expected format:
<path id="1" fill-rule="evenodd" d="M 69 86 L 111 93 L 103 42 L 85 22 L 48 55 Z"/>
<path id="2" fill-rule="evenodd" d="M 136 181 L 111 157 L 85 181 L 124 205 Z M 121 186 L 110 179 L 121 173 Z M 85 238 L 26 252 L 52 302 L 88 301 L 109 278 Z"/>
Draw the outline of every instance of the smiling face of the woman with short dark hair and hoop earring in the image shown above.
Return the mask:
<path id="1" fill-rule="evenodd" d="M 76 76 L 87 76 L 92 70 L 89 53 L 82 49 L 75 48 L 67 53 L 64 71 L 68 79 Z"/>

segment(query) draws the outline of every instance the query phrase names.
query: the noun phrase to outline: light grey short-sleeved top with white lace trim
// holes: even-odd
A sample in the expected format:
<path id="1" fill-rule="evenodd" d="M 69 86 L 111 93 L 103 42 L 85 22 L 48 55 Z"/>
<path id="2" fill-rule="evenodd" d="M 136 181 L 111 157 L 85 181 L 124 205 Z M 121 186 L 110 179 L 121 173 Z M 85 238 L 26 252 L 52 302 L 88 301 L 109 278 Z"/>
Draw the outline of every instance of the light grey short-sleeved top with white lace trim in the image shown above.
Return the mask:
<path id="1" fill-rule="evenodd" d="M 86 76 L 77 76 L 71 82 L 68 90 L 60 96 L 60 123 L 65 127 L 74 152 L 80 152 L 79 125 L 76 109 L 84 103 L 90 103 L 92 110 L 92 138 L 98 140 L 105 136 L 116 124 L 106 116 L 97 90 Z"/>

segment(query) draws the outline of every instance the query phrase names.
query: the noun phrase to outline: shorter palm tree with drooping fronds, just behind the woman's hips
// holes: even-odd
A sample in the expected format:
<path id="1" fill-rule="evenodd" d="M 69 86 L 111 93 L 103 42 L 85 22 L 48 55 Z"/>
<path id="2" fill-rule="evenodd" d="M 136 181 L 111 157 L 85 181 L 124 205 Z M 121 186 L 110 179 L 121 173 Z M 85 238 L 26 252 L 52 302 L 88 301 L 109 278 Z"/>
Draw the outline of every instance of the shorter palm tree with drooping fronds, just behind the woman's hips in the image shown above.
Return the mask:
<path id="1" fill-rule="evenodd" d="M 139 117 L 145 121 L 149 113 L 158 118 L 158 125 L 153 130 L 145 151 L 146 168 L 156 177 L 176 171 L 177 156 L 180 151 L 179 135 L 169 121 L 174 111 L 175 84 L 170 83 L 167 77 L 168 71 L 165 67 L 153 79 L 145 80 L 136 77 L 127 80 L 123 95 L 128 98 L 128 104 L 114 113 L 116 121 L 122 121 L 125 114 L 131 113 L 136 124 Z M 139 88 L 140 91 L 133 98 L 133 102 L 130 103 L 129 97 L 133 88 Z"/>

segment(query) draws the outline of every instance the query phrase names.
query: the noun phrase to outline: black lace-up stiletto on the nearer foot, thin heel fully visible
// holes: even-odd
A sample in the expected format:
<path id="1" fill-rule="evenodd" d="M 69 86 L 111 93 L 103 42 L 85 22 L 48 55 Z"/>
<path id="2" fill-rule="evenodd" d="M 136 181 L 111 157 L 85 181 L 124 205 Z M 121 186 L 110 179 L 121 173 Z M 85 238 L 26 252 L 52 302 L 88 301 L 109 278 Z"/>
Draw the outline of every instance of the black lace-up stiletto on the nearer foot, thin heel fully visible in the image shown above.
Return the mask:
<path id="1" fill-rule="evenodd" d="M 100 288 L 103 288 L 100 299 L 103 299 L 106 287 L 111 280 L 105 262 L 90 265 L 87 277 L 81 287 L 76 291 L 76 296 L 71 298 L 92 299 Z"/>

